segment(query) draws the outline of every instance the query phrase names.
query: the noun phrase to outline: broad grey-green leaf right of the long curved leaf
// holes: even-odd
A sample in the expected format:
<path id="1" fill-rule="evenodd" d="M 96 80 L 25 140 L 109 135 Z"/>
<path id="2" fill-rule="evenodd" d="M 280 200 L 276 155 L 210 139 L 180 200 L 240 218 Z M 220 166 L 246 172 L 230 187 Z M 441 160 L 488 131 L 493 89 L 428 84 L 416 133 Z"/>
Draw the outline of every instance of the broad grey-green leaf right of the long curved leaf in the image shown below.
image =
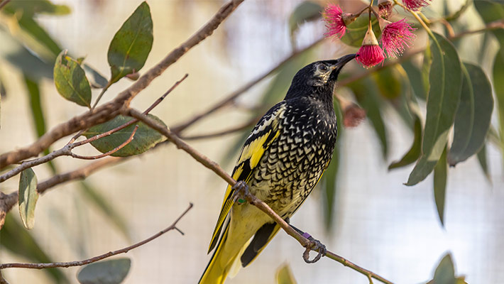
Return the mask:
<path id="1" fill-rule="evenodd" d="M 493 111 L 492 86 L 481 67 L 464 63 L 464 80 L 448 154 L 451 166 L 478 153 L 485 143 Z"/>

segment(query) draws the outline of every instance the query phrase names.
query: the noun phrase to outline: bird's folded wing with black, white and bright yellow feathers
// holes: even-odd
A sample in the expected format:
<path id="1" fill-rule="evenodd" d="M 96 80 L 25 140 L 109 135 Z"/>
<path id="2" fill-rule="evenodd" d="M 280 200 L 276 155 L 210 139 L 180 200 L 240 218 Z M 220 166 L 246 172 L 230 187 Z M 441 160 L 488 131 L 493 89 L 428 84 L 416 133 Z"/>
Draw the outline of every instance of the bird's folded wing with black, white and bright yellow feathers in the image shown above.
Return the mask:
<path id="1" fill-rule="evenodd" d="M 280 136 L 278 116 L 282 114 L 284 110 L 285 108 L 280 106 L 268 117 L 264 116 L 253 129 L 241 150 L 240 158 L 233 170 L 234 180 L 243 180 L 245 182 L 250 180 L 253 169 L 258 165 L 266 149 L 268 149 L 271 143 Z M 233 195 L 234 190 L 231 185 L 228 185 L 226 194 L 224 195 L 224 201 L 222 202 L 221 213 L 219 214 L 219 219 L 217 219 L 217 224 L 215 224 L 212 241 L 210 241 L 209 252 L 212 251 L 217 244 L 226 217 L 231 210 L 231 206 L 234 204 Z"/>

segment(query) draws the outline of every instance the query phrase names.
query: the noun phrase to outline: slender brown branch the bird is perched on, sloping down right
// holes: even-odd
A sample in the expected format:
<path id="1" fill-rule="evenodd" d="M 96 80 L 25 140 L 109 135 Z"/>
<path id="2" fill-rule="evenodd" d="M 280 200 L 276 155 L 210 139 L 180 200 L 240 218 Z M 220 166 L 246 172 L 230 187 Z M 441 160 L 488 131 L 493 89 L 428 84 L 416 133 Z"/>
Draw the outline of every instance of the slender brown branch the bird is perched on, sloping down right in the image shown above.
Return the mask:
<path id="1" fill-rule="evenodd" d="M 141 114 L 140 111 L 136 111 L 135 109 L 125 109 L 123 113 L 126 115 L 133 116 L 134 118 L 148 125 L 150 128 L 155 129 L 159 133 L 162 133 L 164 136 L 166 136 L 166 138 L 168 138 L 168 140 L 174 143 L 175 146 L 177 146 L 177 148 L 182 149 L 183 151 L 191 155 L 192 158 L 195 158 L 195 160 L 197 160 L 199 163 L 201 163 L 202 165 L 204 165 L 205 167 L 209 168 L 214 173 L 219 175 L 219 177 L 221 177 L 223 180 L 229 183 L 229 185 L 231 186 L 236 185 L 236 180 L 231 178 L 231 176 L 228 173 L 226 173 L 226 171 L 224 171 L 218 163 L 214 162 L 213 160 L 210 160 L 207 156 L 203 155 L 202 153 L 199 153 L 195 148 L 192 148 L 192 146 L 185 143 L 185 141 L 182 141 L 182 139 L 180 139 L 177 135 L 172 133 L 172 131 L 170 131 L 170 129 L 168 129 L 166 126 L 163 126 L 162 124 L 158 123 L 158 121 L 155 121 L 154 119 L 151 119 L 150 117 Z M 295 231 L 295 229 L 292 229 L 292 226 L 287 224 L 287 222 L 285 222 L 284 219 L 278 216 L 278 214 L 276 214 L 273 211 L 273 209 L 271 209 L 268 206 L 268 204 L 265 204 L 265 202 L 259 200 L 257 197 L 250 194 L 250 192 L 248 192 L 245 198 L 249 203 L 253 204 L 254 206 L 258 207 L 258 209 L 261 209 L 261 211 L 268 214 L 268 216 L 270 216 L 277 224 L 279 224 L 287 234 L 296 239 L 303 247 L 314 248 L 315 251 L 319 251 L 319 249 L 316 249 L 316 244 L 314 243 L 314 241 L 309 241 L 309 239 L 302 236 L 300 233 Z M 386 280 L 380 275 L 377 275 L 372 271 L 368 271 L 365 268 L 361 268 L 360 266 L 357 266 L 355 263 L 352 263 L 351 261 L 346 260 L 346 258 L 342 258 L 341 256 L 338 256 L 335 253 L 327 251 L 326 256 L 333 259 L 334 261 L 338 261 L 344 266 L 348 266 L 349 268 L 352 268 L 355 271 L 362 273 L 363 275 L 375 278 L 386 284 L 393 284 L 392 282 Z"/>

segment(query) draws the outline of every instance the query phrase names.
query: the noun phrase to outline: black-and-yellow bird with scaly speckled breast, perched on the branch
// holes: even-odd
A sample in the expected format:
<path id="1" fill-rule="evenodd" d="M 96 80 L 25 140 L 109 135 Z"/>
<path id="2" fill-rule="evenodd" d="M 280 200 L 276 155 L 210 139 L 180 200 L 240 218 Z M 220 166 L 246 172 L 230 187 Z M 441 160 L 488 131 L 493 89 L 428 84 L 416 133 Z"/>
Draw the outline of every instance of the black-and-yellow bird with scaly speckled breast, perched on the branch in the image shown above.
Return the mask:
<path id="1" fill-rule="evenodd" d="M 334 87 L 341 68 L 356 56 L 302 67 L 283 101 L 264 114 L 241 148 L 232 177 L 283 219 L 299 209 L 329 166 L 337 136 Z M 208 253 L 215 251 L 199 284 L 224 283 L 280 229 L 257 207 L 236 200 L 235 192 L 227 187 Z"/>

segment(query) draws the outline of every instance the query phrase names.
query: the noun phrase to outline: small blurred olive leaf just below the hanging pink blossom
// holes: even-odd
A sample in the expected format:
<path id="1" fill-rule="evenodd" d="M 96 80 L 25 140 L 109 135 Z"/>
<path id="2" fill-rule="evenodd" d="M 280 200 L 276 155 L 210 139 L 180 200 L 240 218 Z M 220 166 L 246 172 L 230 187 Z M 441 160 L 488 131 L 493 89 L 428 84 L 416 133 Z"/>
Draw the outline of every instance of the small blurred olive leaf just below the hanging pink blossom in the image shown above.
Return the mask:
<path id="1" fill-rule="evenodd" d="M 402 93 L 402 82 L 395 65 L 373 72 L 371 75 L 375 80 L 380 94 L 385 99 L 397 99 Z"/>

